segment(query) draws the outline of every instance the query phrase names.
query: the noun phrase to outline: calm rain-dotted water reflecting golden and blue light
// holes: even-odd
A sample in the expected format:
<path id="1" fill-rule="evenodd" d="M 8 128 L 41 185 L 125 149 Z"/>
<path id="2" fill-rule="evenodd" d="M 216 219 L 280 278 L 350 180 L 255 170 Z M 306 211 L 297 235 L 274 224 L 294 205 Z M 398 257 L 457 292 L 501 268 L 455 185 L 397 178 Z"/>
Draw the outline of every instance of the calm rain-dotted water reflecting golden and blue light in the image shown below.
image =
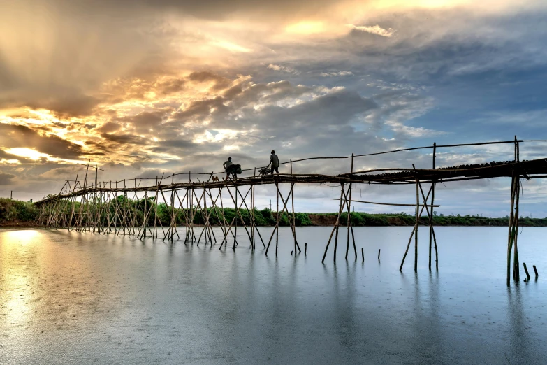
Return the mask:
<path id="1" fill-rule="evenodd" d="M 343 235 L 324 266 L 328 227 L 299 228 L 297 257 L 282 229 L 277 259 L 244 236 L 0 230 L 0 364 L 546 364 L 547 229 L 523 229 L 532 281 L 510 289 L 507 229 L 437 228 L 438 273 L 426 229 L 417 275 L 413 248 L 398 271 L 411 227 L 357 228 L 358 261 Z"/>

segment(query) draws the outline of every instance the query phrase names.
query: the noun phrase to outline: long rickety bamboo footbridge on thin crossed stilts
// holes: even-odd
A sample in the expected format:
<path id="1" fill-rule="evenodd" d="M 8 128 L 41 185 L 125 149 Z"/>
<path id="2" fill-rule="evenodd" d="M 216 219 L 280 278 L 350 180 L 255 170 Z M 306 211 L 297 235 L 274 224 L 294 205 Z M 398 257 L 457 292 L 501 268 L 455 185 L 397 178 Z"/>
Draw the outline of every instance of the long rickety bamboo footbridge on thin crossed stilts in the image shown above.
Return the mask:
<path id="1" fill-rule="evenodd" d="M 217 243 L 217 238 L 212 229 L 212 224 L 218 224 L 221 228 L 223 238 L 220 249 L 226 249 L 228 238 L 233 238 L 233 249 L 238 245 L 238 225 L 245 229 L 250 241 L 251 249 L 256 248 L 257 241 L 265 248 L 265 255 L 268 255 L 270 244 L 275 236 L 275 255 L 279 244 L 279 225 L 281 222 L 288 223 L 294 238 L 294 252 L 301 252 L 300 245 L 296 238 L 296 216 L 294 211 L 293 188 L 296 184 L 336 184 L 340 185 L 340 201 L 337 220 L 330 233 L 326 244 L 323 262 L 326 258 L 330 243 L 334 238 L 333 258 L 336 260 L 338 243 L 338 232 L 342 223 L 342 215 L 347 219 L 347 242 L 346 255 L 348 259 L 350 252 L 350 237 L 353 243 L 353 255 L 358 258 L 353 234 L 351 219 L 351 203 L 375 203 L 370 201 L 356 201 L 351 199 L 352 187 L 354 184 L 381 184 L 381 185 L 415 185 L 416 204 L 395 204 L 375 203 L 390 206 L 416 206 L 416 222 L 412 229 L 406 251 L 402 258 L 400 270 L 404 259 L 414 237 L 414 270 L 418 266 L 418 224 L 419 218 L 424 211 L 429 224 L 429 268 L 431 269 L 432 249 L 435 250 L 435 266 L 438 269 L 437 240 L 435 229 L 432 224 L 432 208 L 436 207 L 435 184 L 448 183 L 463 180 L 476 180 L 486 178 L 511 178 L 511 213 L 509 215 L 509 235 L 507 246 L 507 283 L 511 278 L 511 252 L 513 252 L 513 278 L 519 279 L 518 264 L 518 203 L 520 196 L 520 178 L 545 178 L 547 177 L 547 159 L 534 159 L 531 161 L 520 161 L 520 144 L 523 142 L 547 142 L 547 141 L 521 141 L 515 138 L 514 141 L 500 141 L 487 143 L 467 143 L 459 145 L 432 145 L 426 147 L 406 148 L 387 152 L 369 153 L 365 155 L 351 155 L 344 157 L 312 157 L 284 162 L 290 166 L 290 173 L 281 173 L 276 176 L 257 176 L 257 169 L 246 169 L 252 176 L 240 177 L 235 180 L 212 181 L 215 174 L 222 173 L 177 173 L 161 178 L 133 178 L 121 181 L 109 181 L 100 183 L 95 169 L 95 181 L 89 182 L 89 164 L 85 170 L 83 181 L 66 181 L 61 192 L 57 195 L 50 195 L 36 205 L 41 213 L 38 215 L 38 224 L 52 228 L 67 228 L 75 231 L 92 231 L 103 234 L 124 234 L 135 236 L 140 239 L 145 237 L 159 238 L 163 241 L 175 241 L 182 239 L 178 230 L 182 231 L 184 226 L 184 244 L 196 242 L 198 245 L 201 238 L 205 245 Z M 465 146 L 480 146 L 507 144 L 514 145 L 514 158 L 505 162 L 490 162 L 485 164 L 472 164 L 463 166 L 436 168 L 435 157 L 438 148 L 455 148 Z M 411 150 L 432 150 L 432 169 L 373 169 L 365 171 L 353 171 L 353 162 L 356 157 L 370 157 L 385 155 L 395 152 Z M 339 160 L 348 159 L 351 161 L 349 173 L 341 173 L 334 176 L 321 174 L 298 174 L 293 173 L 293 164 L 297 162 L 313 160 Z M 93 167 L 92 167 L 93 168 Z M 187 182 L 175 183 L 188 176 Z M 207 179 L 206 181 L 203 177 Z M 200 177 L 202 178 L 200 180 Z M 193 180 L 194 179 L 194 180 Z M 216 179 L 215 179 L 216 180 Z M 289 193 L 283 196 L 279 185 L 290 184 Z M 422 187 L 429 185 L 427 194 Z M 255 187 L 256 185 L 275 185 L 277 190 L 277 205 L 275 210 L 275 226 L 270 237 L 263 237 L 258 231 L 256 224 Z M 230 201 L 228 205 L 234 206 L 232 211 L 224 206 L 222 192 L 228 192 Z M 226 194 L 225 194 L 226 196 Z M 279 203 L 281 202 L 281 210 Z M 344 214 L 347 213 L 347 214 Z M 162 224 L 162 217 L 163 224 Z M 168 221 L 166 223 L 166 220 Z M 196 220 L 201 224 L 196 225 Z M 196 231 L 200 228 L 200 234 L 196 238 Z M 176 236 L 176 237 L 175 237 Z M 258 236 L 258 238 L 257 238 Z M 513 250 L 514 247 L 514 250 Z"/>

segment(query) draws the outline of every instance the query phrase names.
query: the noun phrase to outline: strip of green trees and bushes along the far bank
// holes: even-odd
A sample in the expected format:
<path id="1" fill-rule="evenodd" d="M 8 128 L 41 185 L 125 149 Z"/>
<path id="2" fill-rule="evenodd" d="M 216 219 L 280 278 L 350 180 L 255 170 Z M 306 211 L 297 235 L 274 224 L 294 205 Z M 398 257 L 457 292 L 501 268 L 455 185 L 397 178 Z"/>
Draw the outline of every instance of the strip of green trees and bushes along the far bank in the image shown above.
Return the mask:
<path id="1" fill-rule="evenodd" d="M 63 211 L 71 213 L 72 205 L 69 201 L 63 201 Z M 115 206 L 118 207 L 118 211 L 131 210 L 131 215 L 125 217 L 129 223 L 129 220 L 135 220 L 137 224 L 143 224 L 145 220 L 145 205 L 147 210 L 152 207 L 152 212 L 147 217 L 147 223 L 154 224 L 153 211 L 157 209 L 158 224 L 161 222 L 163 226 L 170 224 L 170 214 L 173 211 L 171 206 L 167 206 L 165 203 L 154 203 L 153 198 L 140 199 L 133 201 L 126 199 L 124 196 L 118 196 L 115 204 L 106 206 L 103 203 L 91 204 L 89 206 L 80 206 L 79 202 L 74 204 L 75 215 L 73 217 L 73 223 L 77 219 L 78 212 L 86 212 L 86 215 L 100 215 L 101 221 L 104 225 L 108 225 L 108 220 L 113 221 L 112 217 L 115 216 Z M 189 211 L 186 209 L 175 208 L 175 219 L 177 224 L 184 225 L 186 221 L 185 216 L 189 216 Z M 204 210 L 205 212 L 205 210 Z M 235 209 L 224 208 L 221 210 L 217 208 L 207 208 L 207 214 L 210 214 L 210 222 L 213 225 L 219 224 L 224 218 L 226 221 L 231 222 L 235 216 Z M 245 224 L 250 224 L 249 212 L 247 210 L 240 210 L 242 219 Z M 261 210 L 255 209 L 254 211 L 255 221 L 258 226 L 273 226 L 276 221 L 276 213 L 269 208 Z M 16 226 L 16 225 L 31 225 L 38 217 L 38 208 L 34 206 L 34 203 L 17 201 L 11 199 L 0 198 L 0 224 L 3 226 Z M 292 218 L 292 215 L 291 215 Z M 305 226 L 333 226 L 337 218 L 337 213 L 295 213 L 295 222 L 299 227 Z M 121 214 L 118 214 L 117 224 L 119 225 L 121 219 L 124 219 Z M 239 220 L 241 218 L 238 218 Z M 194 224 L 203 224 L 204 217 L 198 210 L 194 215 Z M 347 222 L 347 213 L 342 213 L 340 217 L 340 223 L 345 225 Z M 351 222 L 354 227 L 365 226 L 413 226 L 415 222 L 414 215 L 406 213 L 395 214 L 368 214 L 360 212 L 351 212 Z M 420 223 L 428 225 L 428 217 L 422 216 Z M 279 215 L 279 224 L 281 226 L 289 226 L 289 216 L 286 213 Z M 473 215 L 434 215 L 433 224 L 436 226 L 499 226 L 507 227 L 509 225 L 509 217 L 502 218 L 488 218 Z M 547 218 L 528 218 L 521 217 L 519 219 L 520 226 L 527 227 L 547 227 Z"/>

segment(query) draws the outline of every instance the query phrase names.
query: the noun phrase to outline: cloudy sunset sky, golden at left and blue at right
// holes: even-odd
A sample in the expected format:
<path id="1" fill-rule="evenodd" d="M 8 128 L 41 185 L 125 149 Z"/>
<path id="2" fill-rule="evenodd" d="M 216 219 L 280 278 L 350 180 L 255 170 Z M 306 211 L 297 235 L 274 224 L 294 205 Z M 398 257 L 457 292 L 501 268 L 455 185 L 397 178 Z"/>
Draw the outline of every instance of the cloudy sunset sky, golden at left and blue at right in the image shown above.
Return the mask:
<path id="1" fill-rule="evenodd" d="M 108 181 L 218 172 L 228 157 L 243 169 L 265 166 L 270 150 L 285 162 L 547 139 L 545 1 L 0 0 L 0 8 L 0 196 L 55 194 L 88 161 Z M 520 155 L 547 157 L 547 143 L 523 143 Z M 512 145 L 441 148 L 436 164 L 509 159 Z M 354 164 L 430 168 L 432 150 Z M 293 164 L 294 173 L 349 169 L 349 159 Z M 437 210 L 508 215 L 509 189 L 507 178 L 439 184 Z M 524 215 L 547 217 L 543 191 L 541 180 L 523 180 Z M 339 194 L 298 185 L 296 210 L 336 211 L 330 199 Z M 354 194 L 415 199 L 414 187 L 362 185 Z M 272 187 L 256 195 L 259 207 L 275 201 Z"/>

